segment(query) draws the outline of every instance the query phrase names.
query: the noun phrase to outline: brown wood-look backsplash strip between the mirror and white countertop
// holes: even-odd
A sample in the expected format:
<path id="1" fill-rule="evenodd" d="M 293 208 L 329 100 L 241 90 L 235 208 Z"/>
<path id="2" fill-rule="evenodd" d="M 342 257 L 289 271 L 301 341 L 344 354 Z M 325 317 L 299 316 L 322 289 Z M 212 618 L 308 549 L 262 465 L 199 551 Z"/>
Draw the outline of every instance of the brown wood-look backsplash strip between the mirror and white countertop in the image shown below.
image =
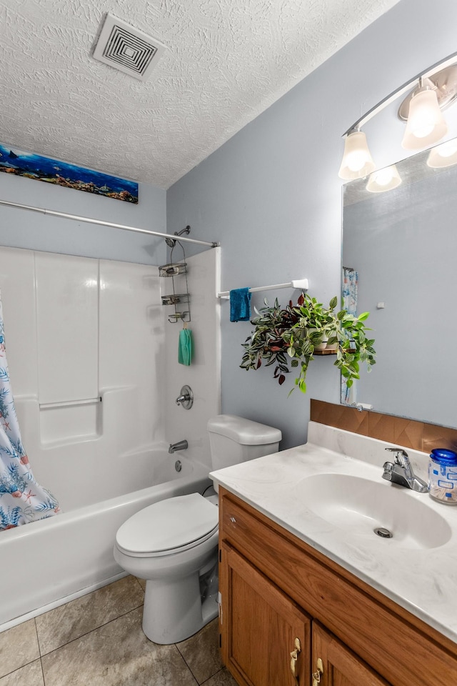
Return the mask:
<path id="1" fill-rule="evenodd" d="M 382 412 L 359 412 L 355 407 L 311 399 L 311 421 L 421 452 L 436 447 L 457 450 L 457 429 Z"/>

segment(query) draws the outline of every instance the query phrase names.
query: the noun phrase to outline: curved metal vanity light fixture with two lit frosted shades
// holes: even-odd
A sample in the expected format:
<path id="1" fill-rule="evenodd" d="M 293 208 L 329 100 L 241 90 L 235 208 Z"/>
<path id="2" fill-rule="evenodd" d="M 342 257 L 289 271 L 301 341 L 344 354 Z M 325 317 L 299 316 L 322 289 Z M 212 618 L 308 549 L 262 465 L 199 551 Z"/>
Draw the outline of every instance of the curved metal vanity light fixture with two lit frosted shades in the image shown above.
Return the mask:
<path id="1" fill-rule="evenodd" d="M 403 148 L 416 150 L 437 143 L 448 132 L 442 110 L 457 98 L 457 53 L 446 57 L 400 86 L 363 114 L 343 134 L 344 153 L 338 172 L 341 179 L 361 179 L 376 169 L 365 134 L 360 129 L 367 121 L 373 119 L 373 116 L 406 93 L 408 95 L 398 109 L 399 118 L 406 121 Z"/>

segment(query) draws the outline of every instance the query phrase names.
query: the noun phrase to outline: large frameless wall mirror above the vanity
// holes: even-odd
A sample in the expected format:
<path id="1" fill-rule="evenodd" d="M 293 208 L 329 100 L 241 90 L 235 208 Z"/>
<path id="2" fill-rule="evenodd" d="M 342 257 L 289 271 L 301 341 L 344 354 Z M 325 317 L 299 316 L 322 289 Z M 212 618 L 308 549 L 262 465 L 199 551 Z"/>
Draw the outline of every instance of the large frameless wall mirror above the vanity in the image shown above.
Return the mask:
<path id="1" fill-rule="evenodd" d="M 343 266 L 358 272 L 357 309 L 376 339 L 357 402 L 457 428 L 457 159 L 435 168 L 429 154 L 398 162 L 388 192 L 346 184 Z"/>

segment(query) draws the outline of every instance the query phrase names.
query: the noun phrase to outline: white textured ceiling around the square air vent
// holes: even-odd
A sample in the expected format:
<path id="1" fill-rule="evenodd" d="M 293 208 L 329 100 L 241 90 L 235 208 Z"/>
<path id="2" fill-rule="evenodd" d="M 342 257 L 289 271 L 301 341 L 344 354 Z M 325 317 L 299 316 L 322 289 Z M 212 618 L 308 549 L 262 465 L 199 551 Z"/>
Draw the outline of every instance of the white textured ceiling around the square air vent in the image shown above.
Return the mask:
<path id="1" fill-rule="evenodd" d="M 0 0 L 0 141 L 168 188 L 398 0 Z M 91 55 L 106 12 L 167 46 Z"/>

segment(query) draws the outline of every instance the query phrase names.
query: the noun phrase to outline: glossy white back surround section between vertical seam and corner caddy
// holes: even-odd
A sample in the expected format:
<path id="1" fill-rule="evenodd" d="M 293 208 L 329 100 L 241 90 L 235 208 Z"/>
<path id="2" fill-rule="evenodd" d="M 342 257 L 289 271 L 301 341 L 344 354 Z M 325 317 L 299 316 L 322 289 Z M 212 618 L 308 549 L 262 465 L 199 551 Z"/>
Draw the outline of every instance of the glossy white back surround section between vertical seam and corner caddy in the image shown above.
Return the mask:
<path id="1" fill-rule="evenodd" d="M 130 388 L 118 439 L 123 450 L 164 441 L 165 308 L 159 270 L 100 261 L 99 385 Z M 136 389 L 136 390 L 135 390 Z"/>

